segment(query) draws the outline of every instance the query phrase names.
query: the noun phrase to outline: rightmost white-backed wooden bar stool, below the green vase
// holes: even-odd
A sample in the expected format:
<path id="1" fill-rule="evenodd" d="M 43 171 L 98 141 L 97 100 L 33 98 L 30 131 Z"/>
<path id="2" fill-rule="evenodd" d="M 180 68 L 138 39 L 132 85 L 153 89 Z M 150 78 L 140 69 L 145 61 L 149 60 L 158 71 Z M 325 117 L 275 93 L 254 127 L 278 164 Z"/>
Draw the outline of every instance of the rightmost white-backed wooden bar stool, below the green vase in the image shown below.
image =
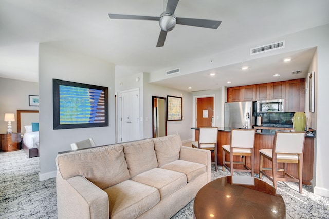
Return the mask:
<path id="1" fill-rule="evenodd" d="M 275 189 L 277 188 L 277 181 L 298 182 L 299 192 L 302 193 L 305 135 L 305 132 L 276 132 L 273 149 L 259 150 L 259 178 L 262 178 L 262 174 L 264 174 L 264 176 L 273 182 Z M 272 168 L 263 167 L 264 157 L 271 161 Z M 284 163 L 284 169 L 278 168 L 278 163 Z M 287 163 L 297 164 L 298 178 L 295 178 L 286 172 Z M 264 170 L 271 170 L 272 177 L 265 173 Z M 278 175 L 278 171 L 283 172 L 283 175 Z"/>

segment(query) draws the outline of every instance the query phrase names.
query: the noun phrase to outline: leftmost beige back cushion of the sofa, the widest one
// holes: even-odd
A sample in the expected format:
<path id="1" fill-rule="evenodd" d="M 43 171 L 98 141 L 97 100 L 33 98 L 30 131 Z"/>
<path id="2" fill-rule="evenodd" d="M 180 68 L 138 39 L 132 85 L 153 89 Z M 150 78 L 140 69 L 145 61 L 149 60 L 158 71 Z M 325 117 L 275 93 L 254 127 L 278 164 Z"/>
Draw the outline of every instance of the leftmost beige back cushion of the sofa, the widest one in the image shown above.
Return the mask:
<path id="1" fill-rule="evenodd" d="M 101 189 L 130 178 L 122 145 L 59 154 L 56 162 L 63 178 L 80 175 Z"/>

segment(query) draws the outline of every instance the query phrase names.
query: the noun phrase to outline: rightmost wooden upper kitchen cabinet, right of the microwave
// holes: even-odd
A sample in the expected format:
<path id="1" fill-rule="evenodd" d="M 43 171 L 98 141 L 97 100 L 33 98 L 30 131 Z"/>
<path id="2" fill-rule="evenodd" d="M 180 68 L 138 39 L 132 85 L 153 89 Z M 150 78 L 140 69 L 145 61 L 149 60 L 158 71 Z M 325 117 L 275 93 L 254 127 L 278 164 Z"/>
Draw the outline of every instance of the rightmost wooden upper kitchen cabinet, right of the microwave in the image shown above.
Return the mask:
<path id="1" fill-rule="evenodd" d="M 305 111 L 305 78 L 285 82 L 286 112 Z"/>

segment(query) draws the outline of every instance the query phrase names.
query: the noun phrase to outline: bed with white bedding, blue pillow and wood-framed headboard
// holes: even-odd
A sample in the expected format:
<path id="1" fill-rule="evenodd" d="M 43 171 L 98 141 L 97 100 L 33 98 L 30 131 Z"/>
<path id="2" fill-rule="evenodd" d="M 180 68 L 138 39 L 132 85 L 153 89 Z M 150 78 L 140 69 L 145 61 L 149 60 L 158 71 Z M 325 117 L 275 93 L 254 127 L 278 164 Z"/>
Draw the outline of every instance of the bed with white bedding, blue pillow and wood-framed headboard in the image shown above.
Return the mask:
<path id="1" fill-rule="evenodd" d="M 17 110 L 17 132 L 21 133 L 22 149 L 29 158 L 39 156 L 39 131 L 32 131 L 33 122 L 39 122 L 38 110 Z"/>

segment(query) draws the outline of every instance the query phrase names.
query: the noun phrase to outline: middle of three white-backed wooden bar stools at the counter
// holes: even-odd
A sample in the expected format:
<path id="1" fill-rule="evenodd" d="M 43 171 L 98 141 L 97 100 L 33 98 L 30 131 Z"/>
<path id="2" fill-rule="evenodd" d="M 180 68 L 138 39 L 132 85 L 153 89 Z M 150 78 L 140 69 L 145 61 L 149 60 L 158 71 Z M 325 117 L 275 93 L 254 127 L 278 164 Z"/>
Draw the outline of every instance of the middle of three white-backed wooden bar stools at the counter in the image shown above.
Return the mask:
<path id="1" fill-rule="evenodd" d="M 223 149 L 223 171 L 227 168 L 231 175 L 233 172 L 251 172 L 253 177 L 254 172 L 254 141 L 255 129 L 232 129 L 231 141 L 229 145 L 222 145 Z M 230 154 L 230 161 L 225 160 L 226 153 Z M 233 156 L 242 156 L 242 162 L 233 161 Z M 250 156 L 250 166 L 246 166 L 246 156 Z M 226 164 L 230 164 L 228 167 Z M 234 164 L 242 164 L 243 169 L 234 169 Z"/>

